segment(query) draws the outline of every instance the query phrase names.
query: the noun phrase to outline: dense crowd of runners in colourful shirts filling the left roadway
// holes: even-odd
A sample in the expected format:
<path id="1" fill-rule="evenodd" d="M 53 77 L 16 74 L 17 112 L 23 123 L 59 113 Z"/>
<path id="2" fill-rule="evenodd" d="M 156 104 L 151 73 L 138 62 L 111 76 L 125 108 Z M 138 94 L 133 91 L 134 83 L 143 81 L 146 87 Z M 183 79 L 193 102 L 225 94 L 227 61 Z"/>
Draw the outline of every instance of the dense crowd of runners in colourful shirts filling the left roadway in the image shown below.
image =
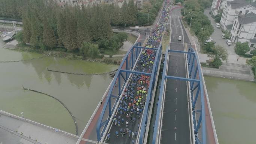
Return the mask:
<path id="1" fill-rule="evenodd" d="M 165 0 L 164 8 L 162 9 L 161 19 L 155 28 L 151 31 L 147 48 L 158 48 L 161 42 L 162 34 L 164 33 L 166 23 L 168 22 L 170 12 L 170 1 Z M 155 61 L 156 50 L 143 49 L 138 59 L 135 70 L 150 73 Z M 129 137 L 131 143 L 135 143 L 135 139 L 140 128 L 140 117 L 143 113 L 143 108 L 147 98 L 147 91 L 150 84 L 150 76 L 133 74 L 131 81 L 125 88 L 124 94 L 119 101 L 117 114 L 112 119 L 113 126 L 118 129 L 115 131 L 115 137 Z M 112 136 L 113 137 L 113 136 Z M 110 139 L 110 133 L 107 134 L 107 140 Z"/>

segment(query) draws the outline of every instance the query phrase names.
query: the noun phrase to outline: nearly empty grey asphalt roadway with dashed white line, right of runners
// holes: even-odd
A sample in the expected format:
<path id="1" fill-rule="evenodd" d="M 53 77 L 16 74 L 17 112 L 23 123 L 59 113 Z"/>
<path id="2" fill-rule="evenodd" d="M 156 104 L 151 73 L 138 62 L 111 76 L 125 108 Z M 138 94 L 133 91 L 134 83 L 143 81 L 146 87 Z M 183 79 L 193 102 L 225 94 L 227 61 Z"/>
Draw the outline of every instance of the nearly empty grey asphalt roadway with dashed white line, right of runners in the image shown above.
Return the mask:
<path id="1" fill-rule="evenodd" d="M 179 15 L 180 9 L 174 9 L 171 12 L 170 49 L 184 51 L 184 40 L 182 35 L 182 26 L 179 22 Z M 185 30 L 183 31 L 185 32 Z M 178 41 L 179 36 L 182 36 L 182 41 Z M 186 34 L 184 39 L 184 42 L 190 43 Z M 167 74 L 169 76 L 186 77 L 184 54 L 170 53 L 167 70 Z M 186 82 L 180 80 L 167 80 L 162 120 L 161 144 L 191 144 L 191 129 L 188 108 Z"/>

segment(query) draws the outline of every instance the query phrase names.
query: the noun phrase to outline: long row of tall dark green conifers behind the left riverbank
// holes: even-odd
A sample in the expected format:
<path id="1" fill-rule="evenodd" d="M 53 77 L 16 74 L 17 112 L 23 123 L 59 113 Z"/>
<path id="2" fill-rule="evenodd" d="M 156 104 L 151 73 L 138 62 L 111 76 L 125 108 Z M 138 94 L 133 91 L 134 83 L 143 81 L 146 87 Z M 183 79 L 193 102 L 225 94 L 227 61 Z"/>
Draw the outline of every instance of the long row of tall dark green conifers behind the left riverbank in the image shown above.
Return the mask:
<path id="1" fill-rule="evenodd" d="M 13 0 L 13 2 L 17 2 Z M 124 2 L 122 9 L 114 4 L 99 4 L 93 6 L 59 7 L 54 0 L 26 0 L 21 4 L 23 31 L 16 39 L 22 43 L 30 43 L 32 47 L 41 50 L 52 49 L 55 46 L 65 47 L 74 51 L 81 48 L 84 42 L 98 44 L 99 48 L 116 50 L 124 42 L 124 36 L 115 35 L 111 24 L 128 26 L 149 23 L 147 18 L 151 3 L 145 2 L 138 10 L 133 0 Z M 150 11 L 155 17 L 161 8 L 161 3 Z M 141 13 L 146 13 L 142 14 Z M 152 16 L 153 15 L 153 16 Z M 15 16 L 11 16 L 15 18 Z M 139 20 L 138 20 L 139 19 Z M 144 18 L 145 19 L 145 18 Z M 152 19 L 152 18 L 151 18 Z M 120 48 L 120 47 L 119 47 Z"/>

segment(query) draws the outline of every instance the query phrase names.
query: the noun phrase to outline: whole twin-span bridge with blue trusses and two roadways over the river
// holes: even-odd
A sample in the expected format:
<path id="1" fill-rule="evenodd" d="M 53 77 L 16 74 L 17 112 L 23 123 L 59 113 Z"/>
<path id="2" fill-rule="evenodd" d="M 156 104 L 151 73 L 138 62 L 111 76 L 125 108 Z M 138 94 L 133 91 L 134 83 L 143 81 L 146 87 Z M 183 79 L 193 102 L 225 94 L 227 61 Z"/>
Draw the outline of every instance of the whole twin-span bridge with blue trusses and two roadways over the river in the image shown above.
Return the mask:
<path id="1" fill-rule="evenodd" d="M 198 53 L 182 25 L 180 9 L 165 1 L 162 15 L 168 10 L 168 16 L 159 19 L 150 37 L 127 52 L 103 95 L 103 103 L 97 106 L 76 144 L 218 144 Z M 171 29 L 168 48 L 162 51 L 159 41 L 153 42 L 155 47 L 149 45 L 159 27 L 165 31 L 167 25 Z M 141 59 L 147 52 L 153 53 L 154 61 L 144 66 Z M 141 96 L 136 89 L 142 85 L 134 81 L 140 76 L 149 77 L 149 85 L 143 85 L 147 96 L 141 99 L 142 104 L 136 105 L 140 103 L 136 100 L 135 106 L 128 105 L 130 98 Z"/>

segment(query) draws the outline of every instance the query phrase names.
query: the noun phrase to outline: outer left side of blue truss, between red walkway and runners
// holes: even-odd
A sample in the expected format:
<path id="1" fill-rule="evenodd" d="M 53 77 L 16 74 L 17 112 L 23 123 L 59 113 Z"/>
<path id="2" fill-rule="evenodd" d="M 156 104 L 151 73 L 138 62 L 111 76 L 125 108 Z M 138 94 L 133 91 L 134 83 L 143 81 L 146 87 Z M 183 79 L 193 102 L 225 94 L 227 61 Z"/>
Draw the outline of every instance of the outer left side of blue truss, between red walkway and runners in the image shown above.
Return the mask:
<path id="1" fill-rule="evenodd" d="M 139 57 L 140 49 L 135 48 L 135 46 L 140 46 L 141 43 L 135 43 L 132 48 L 127 52 L 125 55 L 123 61 L 121 62 L 118 71 L 116 71 L 116 75 L 113 78 L 112 84 L 110 86 L 109 92 L 106 97 L 106 102 L 104 102 L 103 109 L 101 111 L 100 117 L 97 122 L 97 140 L 103 141 L 103 138 L 106 135 L 106 130 L 109 128 L 109 122 L 113 119 L 112 113 L 115 113 L 116 106 L 119 105 L 119 98 L 121 97 L 121 94 L 124 90 L 125 85 L 127 85 L 127 81 L 129 80 L 129 77 L 131 74 L 126 73 L 125 75 L 121 71 L 122 69 L 125 70 L 132 70 L 135 68 L 135 63 Z M 115 85 L 117 86 L 117 92 L 113 91 L 115 88 Z M 115 101 L 112 104 L 113 101 L 111 101 L 111 98 L 114 98 Z M 106 111 L 108 109 L 108 111 Z M 104 121 L 103 121 L 104 120 Z"/>

